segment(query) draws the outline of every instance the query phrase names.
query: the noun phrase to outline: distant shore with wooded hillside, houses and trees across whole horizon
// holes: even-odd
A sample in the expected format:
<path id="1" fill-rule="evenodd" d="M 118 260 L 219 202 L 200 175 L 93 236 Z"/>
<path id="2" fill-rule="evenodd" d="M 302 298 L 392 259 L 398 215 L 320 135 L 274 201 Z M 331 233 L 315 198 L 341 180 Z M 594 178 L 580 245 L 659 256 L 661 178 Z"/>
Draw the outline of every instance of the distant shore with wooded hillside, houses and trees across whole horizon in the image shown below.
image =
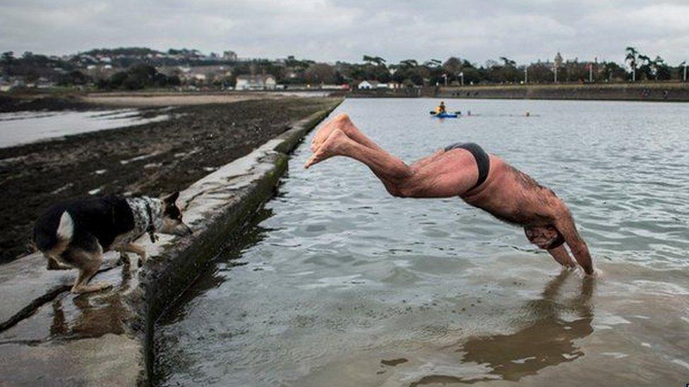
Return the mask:
<path id="1" fill-rule="evenodd" d="M 553 83 L 671 82 L 687 80 L 687 63 L 672 66 L 634 47 L 615 61 L 553 59 L 518 64 L 473 63 L 456 56 L 441 61 L 407 59 L 388 63 L 364 55 L 360 63 L 318 63 L 287 56 L 244 58 L 232 50 L 204 54 L 196 49 L 157 51 L 145 47 L 92 49 L 47 56 L 4 52 L 0 91 L 69 87 L 79 90 L 390 90 L 422 86 L 522 85 Z"/>

